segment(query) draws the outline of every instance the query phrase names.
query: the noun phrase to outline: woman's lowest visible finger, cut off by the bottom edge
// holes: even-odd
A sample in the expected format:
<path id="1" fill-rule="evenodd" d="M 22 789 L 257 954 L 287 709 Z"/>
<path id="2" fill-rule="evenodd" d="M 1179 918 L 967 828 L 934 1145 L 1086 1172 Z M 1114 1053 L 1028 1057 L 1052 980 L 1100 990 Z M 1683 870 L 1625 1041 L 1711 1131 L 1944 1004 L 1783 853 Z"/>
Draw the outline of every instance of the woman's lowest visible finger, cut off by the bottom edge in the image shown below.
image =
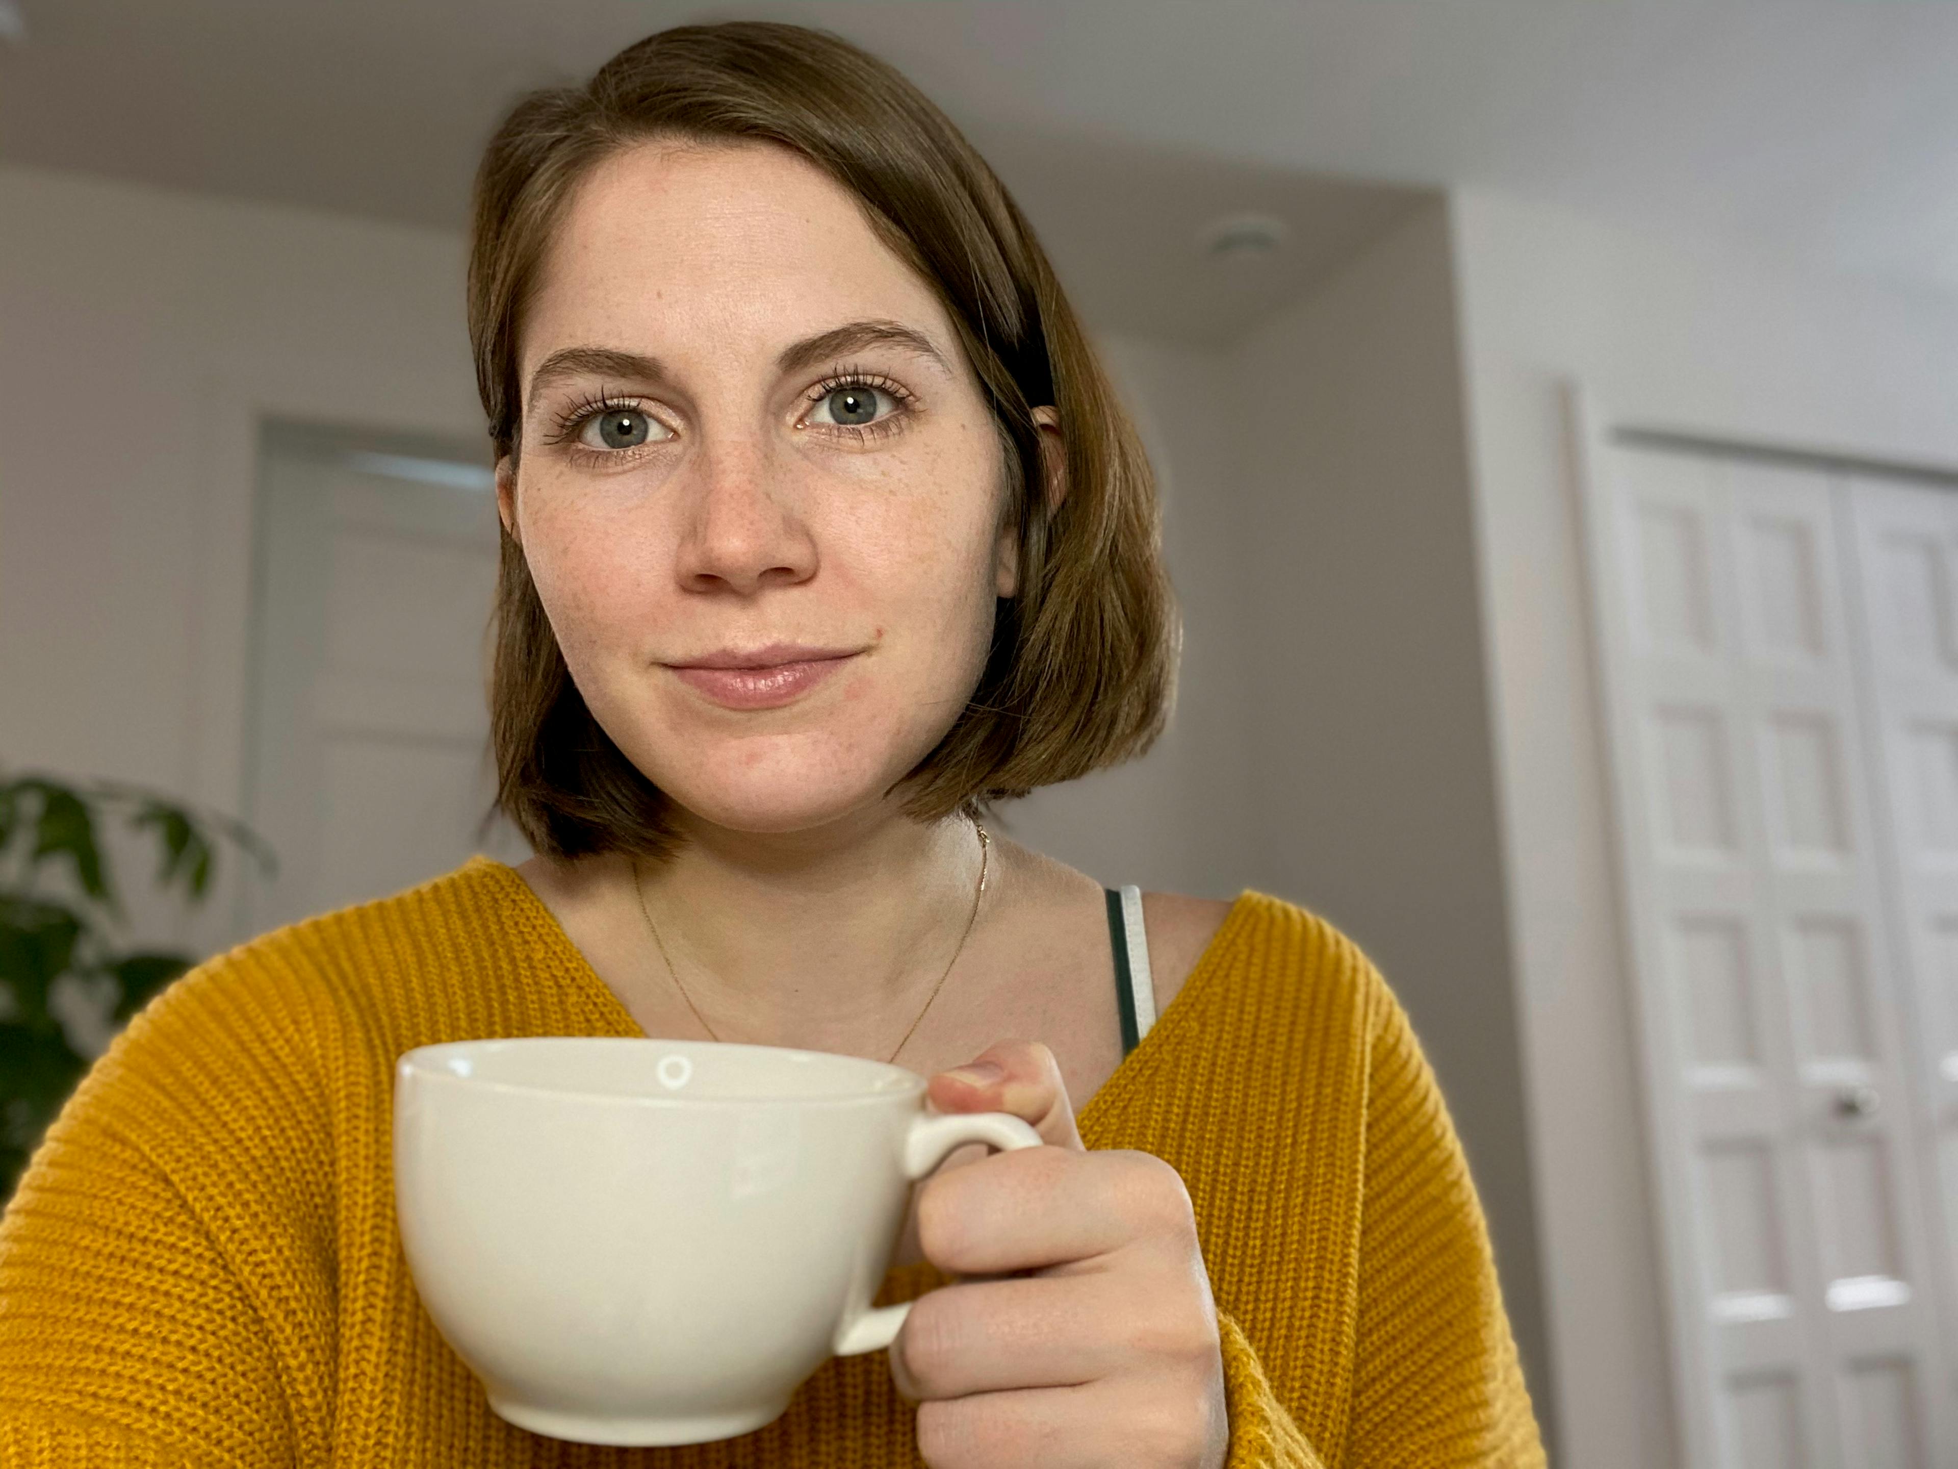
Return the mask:
<path id="1" fill-rule="evenodd" d="M 1200 1383 L 1132 1379 L 979 1393 L 918 1406 L 930 1469 L 1218 1463 L 1224 1404 Z"/>

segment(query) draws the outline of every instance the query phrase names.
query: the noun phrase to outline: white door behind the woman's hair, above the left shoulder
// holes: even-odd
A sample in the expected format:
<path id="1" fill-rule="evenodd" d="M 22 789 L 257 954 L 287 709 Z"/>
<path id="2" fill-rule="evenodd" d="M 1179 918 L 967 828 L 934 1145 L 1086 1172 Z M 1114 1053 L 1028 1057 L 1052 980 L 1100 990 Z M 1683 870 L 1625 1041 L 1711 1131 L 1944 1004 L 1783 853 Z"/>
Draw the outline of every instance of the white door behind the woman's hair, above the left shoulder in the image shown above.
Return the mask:
<path id="1" fill-rule="evenodd" d="M 268 437 L 260 466 L 249 821 L 278 877 L 251 928 L 380 897 L 472 852 L 521 860 L 486 823 L 486 633 L 495 499 L 374 472 L 441 464 Z"/>

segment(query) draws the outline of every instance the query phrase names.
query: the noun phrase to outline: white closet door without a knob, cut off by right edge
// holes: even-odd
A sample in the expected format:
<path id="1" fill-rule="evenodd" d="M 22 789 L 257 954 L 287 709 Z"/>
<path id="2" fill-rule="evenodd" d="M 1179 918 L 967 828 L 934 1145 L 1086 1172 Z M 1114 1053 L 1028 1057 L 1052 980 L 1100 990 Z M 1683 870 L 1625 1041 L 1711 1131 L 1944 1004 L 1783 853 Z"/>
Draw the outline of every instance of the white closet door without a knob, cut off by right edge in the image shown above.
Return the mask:
<path id="1" fill-rule="evenodd" d="M 1958 488 L 1858 480 L 1848 503 L 1923 1171 L 1944 1320 L 1958 1322 Z M 1944 1395 L 1958 1398 L 1958 1377 Z"/>

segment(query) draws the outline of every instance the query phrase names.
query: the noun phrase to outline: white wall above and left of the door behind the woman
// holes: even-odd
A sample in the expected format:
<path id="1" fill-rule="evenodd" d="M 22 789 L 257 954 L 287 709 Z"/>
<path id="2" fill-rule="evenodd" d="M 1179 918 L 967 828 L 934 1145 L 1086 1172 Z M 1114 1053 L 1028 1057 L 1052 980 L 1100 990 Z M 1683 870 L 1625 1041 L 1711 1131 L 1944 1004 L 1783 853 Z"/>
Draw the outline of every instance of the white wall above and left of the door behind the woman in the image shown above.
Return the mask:
<path id="1" fill-rule="evenodd" d="M 0 168 L 0 764 L 237 809 L 258 419 L 480 435 L 460 282 L 452 235 Z"/>

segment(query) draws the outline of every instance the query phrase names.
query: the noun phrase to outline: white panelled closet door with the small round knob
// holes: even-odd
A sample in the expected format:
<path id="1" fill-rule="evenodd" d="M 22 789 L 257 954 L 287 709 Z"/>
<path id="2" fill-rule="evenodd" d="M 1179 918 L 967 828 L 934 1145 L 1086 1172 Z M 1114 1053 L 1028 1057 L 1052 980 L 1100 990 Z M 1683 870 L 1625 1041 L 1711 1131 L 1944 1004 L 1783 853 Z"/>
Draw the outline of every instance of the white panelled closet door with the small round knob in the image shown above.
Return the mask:
<path id="1" fill-rule="evenodd" d="M 1692 1465 L 1958 1463 L 1835 499 L 1611 445 L 1588 486 Z"/>

